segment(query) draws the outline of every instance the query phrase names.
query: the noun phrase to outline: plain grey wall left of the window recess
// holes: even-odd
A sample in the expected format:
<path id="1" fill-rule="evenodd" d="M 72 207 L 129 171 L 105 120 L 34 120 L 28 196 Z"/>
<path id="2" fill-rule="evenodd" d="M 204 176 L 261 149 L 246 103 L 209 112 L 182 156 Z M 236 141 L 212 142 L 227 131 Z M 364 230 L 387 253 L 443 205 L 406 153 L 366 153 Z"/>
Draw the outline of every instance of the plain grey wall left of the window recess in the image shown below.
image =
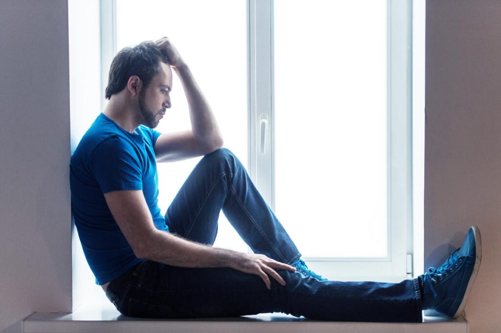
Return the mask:
<path id="1" fill-rule="evenodd" d="M 0 331 L 71 311 L 65 0 L 0 1 Z"/>

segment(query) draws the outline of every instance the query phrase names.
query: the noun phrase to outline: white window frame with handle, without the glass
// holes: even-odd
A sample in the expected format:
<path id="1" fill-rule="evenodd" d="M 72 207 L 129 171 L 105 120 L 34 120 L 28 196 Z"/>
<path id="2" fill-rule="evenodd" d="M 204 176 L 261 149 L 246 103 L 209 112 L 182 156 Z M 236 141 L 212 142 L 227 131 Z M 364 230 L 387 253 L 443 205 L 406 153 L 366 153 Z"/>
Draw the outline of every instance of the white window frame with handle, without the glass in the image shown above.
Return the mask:
<path id="1" fill-rule="evenodd" d="M 388 3 L 388 256 L 305 257 L 330 279 L 399 281 L 412 277 L 412 0 Z M 246 0 L 248 166 L 275 208 L 274 0 Z M 116 0 L 101 0 L 102 109 L 108 70 L 117 52 Z M 263 131 L 262 131 L 263 129 Z M 263 152 L 262 152 L 263 151 Z"/>

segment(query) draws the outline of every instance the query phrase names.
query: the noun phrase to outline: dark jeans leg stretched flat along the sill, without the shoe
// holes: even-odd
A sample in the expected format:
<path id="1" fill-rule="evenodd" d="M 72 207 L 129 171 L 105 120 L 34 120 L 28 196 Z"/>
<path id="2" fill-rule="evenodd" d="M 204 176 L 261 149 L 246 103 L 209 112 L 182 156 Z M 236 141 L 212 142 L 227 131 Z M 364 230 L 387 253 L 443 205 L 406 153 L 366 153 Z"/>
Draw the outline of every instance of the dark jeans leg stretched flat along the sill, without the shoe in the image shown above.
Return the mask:
<path id="1" fill-rule="evenodd" d="M 119 310 L 131 316 L 196 318 L 285 312 L 319 320 L 420 322 L 418 280 L 320 281 L 278 270 L 287 282 L 231 268 L 185 268 L 147 261 L 127 282 Z"/>

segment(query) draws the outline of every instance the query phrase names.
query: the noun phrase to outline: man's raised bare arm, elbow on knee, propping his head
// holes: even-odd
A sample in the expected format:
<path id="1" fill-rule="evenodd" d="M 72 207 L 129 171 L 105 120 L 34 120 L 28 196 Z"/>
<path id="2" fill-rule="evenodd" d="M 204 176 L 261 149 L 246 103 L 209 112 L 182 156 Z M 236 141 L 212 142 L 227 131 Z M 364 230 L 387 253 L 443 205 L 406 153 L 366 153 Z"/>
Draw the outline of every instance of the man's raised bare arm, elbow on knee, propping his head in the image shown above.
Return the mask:
<path id="1" fill-rule="evenodd" d="M 167 37 L 157 40 L 179 77 L 188 101 L 191 130 L 161 134 L 155 143 L 158 162 L 174 161 L 208 154 L 222 147 L 217 121 L 189 67 Z"/>

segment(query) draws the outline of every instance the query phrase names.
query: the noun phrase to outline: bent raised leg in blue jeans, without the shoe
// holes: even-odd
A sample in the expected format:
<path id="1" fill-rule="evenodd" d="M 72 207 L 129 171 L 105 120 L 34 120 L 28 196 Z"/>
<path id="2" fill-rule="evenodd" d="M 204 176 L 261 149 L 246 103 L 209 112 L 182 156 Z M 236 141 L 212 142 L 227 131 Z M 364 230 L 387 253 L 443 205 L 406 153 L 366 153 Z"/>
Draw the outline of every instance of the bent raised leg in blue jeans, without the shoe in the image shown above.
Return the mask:
<path id="1" fill-rule="evenodd" d="M 175 234 L 213 244 L 221 209 L 255 253 L 285 263 L 301 256 L 243 165 L 225 148 L 205 155 L 195 166 L 167 209 L 165 222 Z"/>

